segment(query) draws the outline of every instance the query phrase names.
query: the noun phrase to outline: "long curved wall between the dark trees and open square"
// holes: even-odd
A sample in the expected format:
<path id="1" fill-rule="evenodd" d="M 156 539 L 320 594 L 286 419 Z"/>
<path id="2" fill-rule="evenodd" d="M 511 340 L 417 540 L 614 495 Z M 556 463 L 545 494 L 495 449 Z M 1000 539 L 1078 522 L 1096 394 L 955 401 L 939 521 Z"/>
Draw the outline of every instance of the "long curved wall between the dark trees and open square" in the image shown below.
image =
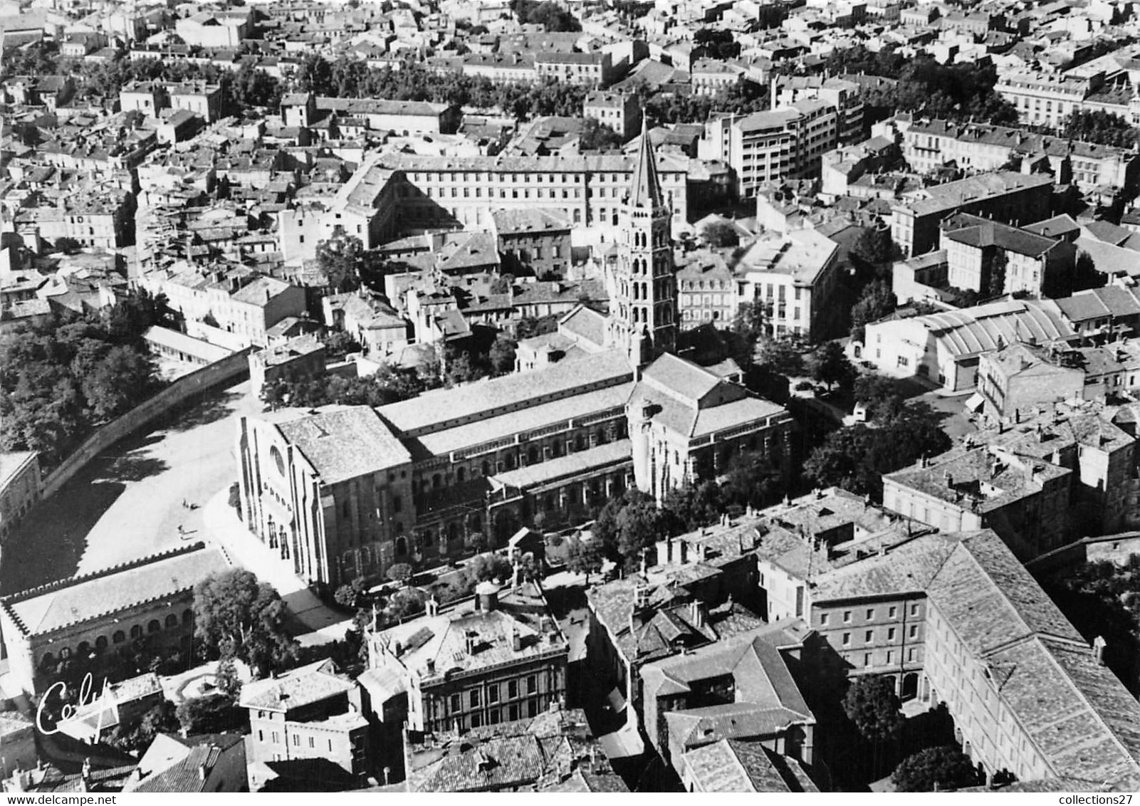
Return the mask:
<path id="1" fill-rule="evenodd" d="M 43 479 L 41 500 L 56 492 L 71 480 L 87 463 L 109 448 L 112 445 L 129 437 L 131 433 L 150 423 L 156 417 L 168 413 L 172 407 L 207 392 L 223 383 L 237 382 L 250 374 L 249 355 L 253 348 L 245 348 L 226 356 L 221 360 L 207 364 L 184 375 L 158 393 L 147 398 L 121 417 L 113 420 L 87 438 L 75 451 L 64 459 L 63 464 Z"/>

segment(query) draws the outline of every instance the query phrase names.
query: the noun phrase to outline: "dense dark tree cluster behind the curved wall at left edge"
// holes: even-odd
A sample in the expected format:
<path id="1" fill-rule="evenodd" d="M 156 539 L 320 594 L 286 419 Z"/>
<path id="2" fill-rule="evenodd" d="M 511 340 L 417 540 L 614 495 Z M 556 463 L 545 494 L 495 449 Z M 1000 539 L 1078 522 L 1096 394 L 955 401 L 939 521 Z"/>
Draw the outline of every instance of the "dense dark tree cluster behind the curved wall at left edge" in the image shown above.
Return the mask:
<path id="1" fill-rule="evenodd" d="M 162 382 L 142 334 L 171 325 L 165 298 L 132 292 L 113 308 L 71 312 L 0 337 L 0 449 L 62 462 L 98 425 L 129 412 Z"/>

